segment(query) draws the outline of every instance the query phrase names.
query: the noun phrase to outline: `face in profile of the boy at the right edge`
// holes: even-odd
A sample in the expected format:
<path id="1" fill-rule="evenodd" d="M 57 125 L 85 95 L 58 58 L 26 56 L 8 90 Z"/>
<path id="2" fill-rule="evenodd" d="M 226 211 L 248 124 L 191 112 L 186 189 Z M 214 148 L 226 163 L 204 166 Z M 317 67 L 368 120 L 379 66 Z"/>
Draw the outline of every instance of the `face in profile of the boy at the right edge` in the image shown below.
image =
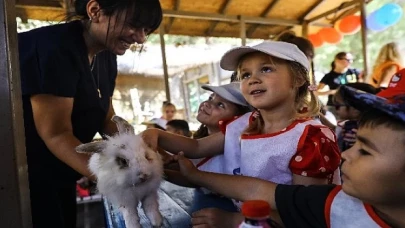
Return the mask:
<path id="1" fill-rule="evenodd" d="M 343 190 L 374 206 L 405 203 L 403 131 L 385 126 L 362 127 L 357 141 L 342 153 Z"/>

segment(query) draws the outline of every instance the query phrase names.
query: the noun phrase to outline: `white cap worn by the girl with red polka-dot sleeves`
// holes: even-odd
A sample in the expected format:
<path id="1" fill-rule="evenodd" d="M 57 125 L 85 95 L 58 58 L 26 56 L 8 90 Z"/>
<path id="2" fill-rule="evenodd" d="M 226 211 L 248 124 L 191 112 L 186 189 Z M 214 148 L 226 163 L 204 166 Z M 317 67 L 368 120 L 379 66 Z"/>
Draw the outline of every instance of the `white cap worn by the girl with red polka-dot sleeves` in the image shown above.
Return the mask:
<path id="1" fill-rule="evenodd" d="M 252 52 L 262 52 L 279 59 L 289 60 L 301 64 L 310 71 L 307 56 L 295 45 L 281 41 L 264 41 L 255 46 L 241 46 L 227 51 L 221 58 L 220 66 L 224 70 L 235 71 L 242 56 Z"/>

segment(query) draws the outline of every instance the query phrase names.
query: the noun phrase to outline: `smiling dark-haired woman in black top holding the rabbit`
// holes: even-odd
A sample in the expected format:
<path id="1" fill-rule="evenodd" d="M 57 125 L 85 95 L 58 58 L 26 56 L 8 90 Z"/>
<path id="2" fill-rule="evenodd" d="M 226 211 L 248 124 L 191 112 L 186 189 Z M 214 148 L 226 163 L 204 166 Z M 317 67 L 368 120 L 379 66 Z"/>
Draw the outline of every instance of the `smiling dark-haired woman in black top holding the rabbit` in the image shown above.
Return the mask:
<path id="1" fill-rule="evenodd" d="M 76 0 L 67 23 L 20 33 L 19 57 L 34 228 L 76 227 L 76 180 L 92 178 L 75 148 L 117 132 L 116 55 L 158 28 L 158 0 Z"/>

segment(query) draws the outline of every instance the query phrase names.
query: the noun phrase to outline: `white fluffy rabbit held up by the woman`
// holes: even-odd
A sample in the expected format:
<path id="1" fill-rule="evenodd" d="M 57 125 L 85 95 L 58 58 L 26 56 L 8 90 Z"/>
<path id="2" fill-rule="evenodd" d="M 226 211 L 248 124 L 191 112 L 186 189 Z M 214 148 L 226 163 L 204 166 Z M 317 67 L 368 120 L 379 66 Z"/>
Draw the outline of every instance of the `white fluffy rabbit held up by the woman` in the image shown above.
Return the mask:
<path id="1" fill-rule="evenodd" d="M 112 118 L 119 134 L 107 140 L 86 143 L 77 152 L 94 153 L 89 169 L 97 177 L 101 194 L 119 207 L 127 228 L 139 228 L 138 204 L 153 227 L 161 227 L 163 218 L 159 211 L 158 188 L 163 176 L 160 155 L 150 149 L 133 127 L 118 116 Z"/>

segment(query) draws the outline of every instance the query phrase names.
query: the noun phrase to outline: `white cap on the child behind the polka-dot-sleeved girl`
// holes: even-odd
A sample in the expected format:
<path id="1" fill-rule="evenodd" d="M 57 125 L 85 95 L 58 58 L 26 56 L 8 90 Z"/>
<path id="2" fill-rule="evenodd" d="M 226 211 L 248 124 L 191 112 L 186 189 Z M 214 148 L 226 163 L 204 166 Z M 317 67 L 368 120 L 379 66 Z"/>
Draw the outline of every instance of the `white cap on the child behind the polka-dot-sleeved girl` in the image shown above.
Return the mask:
<path id="1" fill-rule="evenodd" d="M 240 83 L 239 82 L 231 82 L 229 84 L 220 85 L 220 86 L 213 86 L 213 85 L 202 85 L 201 88 L 205 90 L 212 91 L 218 94 L 220 97 L 224 98 L 227 101 L 232 103 L 248 106 L 245 98 L 243 97 L 242 93 L 240 92 Z"/>

